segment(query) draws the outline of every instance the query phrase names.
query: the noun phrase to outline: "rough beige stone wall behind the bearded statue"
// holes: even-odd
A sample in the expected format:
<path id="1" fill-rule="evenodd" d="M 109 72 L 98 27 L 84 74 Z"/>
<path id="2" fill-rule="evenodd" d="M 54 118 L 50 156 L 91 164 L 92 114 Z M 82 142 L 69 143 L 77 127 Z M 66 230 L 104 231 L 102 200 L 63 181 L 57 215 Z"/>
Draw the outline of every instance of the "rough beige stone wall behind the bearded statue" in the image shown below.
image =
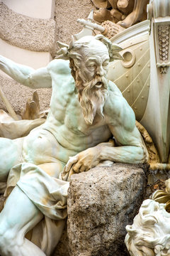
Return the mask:
<path id="1" fill-rule="evenodd" d="M 77 18 L 86 18 L 94 8 L 91 0 L 54 0 L 54 15 L 51 18 L 33 18 L 8 8 L 6 3 L 10 1 L 0 1 L 0 54 L 33 68 L 47 65 L 55 56 L 56 41 L 69 43 L 72 34 L 82 29 Z M 34 91 L 14 82 L 2 72 L 0 86 L 17 114 L 26 106 L 26 101 Z M 40 110 L 46 110 L 50 105 L 51 89 L 38 89 L 38 95 Z M 0 109 L 6 110 L 1 98 Z"/>

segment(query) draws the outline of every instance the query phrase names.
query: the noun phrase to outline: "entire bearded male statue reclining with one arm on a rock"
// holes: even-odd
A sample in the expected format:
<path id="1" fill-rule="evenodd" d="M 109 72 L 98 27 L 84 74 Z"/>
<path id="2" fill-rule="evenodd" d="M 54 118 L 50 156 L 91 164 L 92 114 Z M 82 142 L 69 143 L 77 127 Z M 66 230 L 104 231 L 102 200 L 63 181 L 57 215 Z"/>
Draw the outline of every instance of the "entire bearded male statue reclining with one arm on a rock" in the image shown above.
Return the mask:
<path id="1" fill-rule="evenodd" d="M 1 70 L 17 82 L 52 87 L 46 122 L 27 137 L 0 139 L 0 179 L 3 184 L 7 180 L 8 196 L 0 215 L 2 256 L 51 255 L 67 216 L 69 174 L 106 160 L 147 161 L 135 114 L 106 79 L 118 50 L 98 35 L 72 41 L 60 50 L 60 57 L 69 60 L 52 60 L 38 70 L 1 56 Z M 108 142 L 111 137 L 116 146 Z"/>

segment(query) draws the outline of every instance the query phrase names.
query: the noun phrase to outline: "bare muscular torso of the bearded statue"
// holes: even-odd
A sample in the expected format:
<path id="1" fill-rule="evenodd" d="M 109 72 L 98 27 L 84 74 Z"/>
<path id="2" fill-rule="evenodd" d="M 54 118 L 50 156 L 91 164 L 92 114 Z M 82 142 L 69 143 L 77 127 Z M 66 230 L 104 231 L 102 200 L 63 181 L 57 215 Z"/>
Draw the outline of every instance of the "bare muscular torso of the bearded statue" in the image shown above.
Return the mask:
<path id="1" fill-rule="evenodd" d="M 69 68 L 65 74 L 58 74 L 55 68 L 50 69 L 50 75 L 50 113 L 41 127 L 55 136 L 63 151 L 69 150 L 69 154 L 72 151 L 73 155 L 98 143 L 106 142 L 111 137 L 111 132 L 102 117 L 96 116 L 92 125 L 87 125 L 84 121 Z"/>

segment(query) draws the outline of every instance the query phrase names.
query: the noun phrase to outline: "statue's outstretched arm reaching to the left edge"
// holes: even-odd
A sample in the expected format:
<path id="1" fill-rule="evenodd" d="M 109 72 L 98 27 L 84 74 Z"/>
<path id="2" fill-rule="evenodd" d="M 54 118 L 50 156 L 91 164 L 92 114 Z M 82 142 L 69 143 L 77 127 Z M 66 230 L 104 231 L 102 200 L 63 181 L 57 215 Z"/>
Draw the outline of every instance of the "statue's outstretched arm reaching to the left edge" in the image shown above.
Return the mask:
<path id="1" fill-rule="evenodd" d="M 14 63 L 12 60 L 0 55 L 0 70 L 11 78 L 33 89 L 52 86 L 52 81 L 47 68 L 34 70 L 26 65 Z"/>

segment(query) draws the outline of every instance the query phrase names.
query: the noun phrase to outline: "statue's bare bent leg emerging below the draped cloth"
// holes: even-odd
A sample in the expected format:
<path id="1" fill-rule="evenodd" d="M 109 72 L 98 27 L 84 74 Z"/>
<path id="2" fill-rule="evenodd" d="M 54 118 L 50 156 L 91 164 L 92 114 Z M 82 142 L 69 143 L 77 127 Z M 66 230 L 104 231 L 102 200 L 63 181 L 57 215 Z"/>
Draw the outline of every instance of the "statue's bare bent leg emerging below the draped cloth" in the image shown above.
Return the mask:
<path id="1" fill-rule="evenodd" d="M 1 256 L 45 256 L 39 247 L 24 238 L 42 218 L 40 210 L 16 186 L 0 214 Z"/>

